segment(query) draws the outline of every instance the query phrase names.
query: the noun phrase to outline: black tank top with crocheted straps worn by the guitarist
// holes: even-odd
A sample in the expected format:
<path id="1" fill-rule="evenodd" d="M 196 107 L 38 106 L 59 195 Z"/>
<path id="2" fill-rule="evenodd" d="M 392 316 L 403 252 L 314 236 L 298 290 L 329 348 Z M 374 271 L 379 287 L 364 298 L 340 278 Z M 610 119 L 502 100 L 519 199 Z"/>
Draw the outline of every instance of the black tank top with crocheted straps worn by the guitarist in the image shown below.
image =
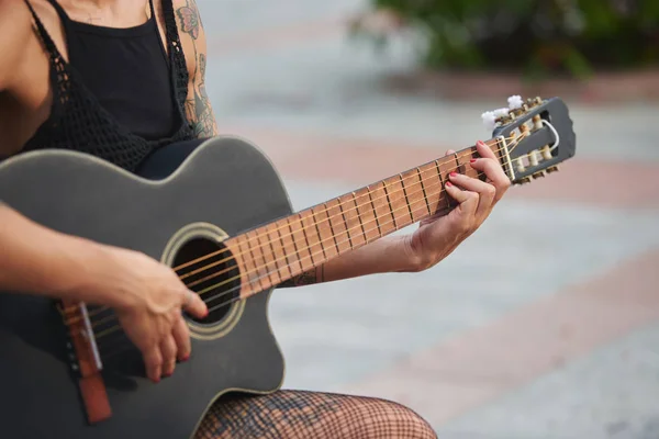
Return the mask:
<path id="1" fill-rule="evenodd" d="M 171 0 L 163 0 L 168 50 L 153 0 L 150 19 L 129 29 L 72 21 L 56 0 L 48 1 L 62 20 L 69 61 L 25 0 L 49 55 L 53 105 L 24 151 L 72 149 L 134 171 L 156 148 L 194 138 L 185 114 L 188 70 Z"/>

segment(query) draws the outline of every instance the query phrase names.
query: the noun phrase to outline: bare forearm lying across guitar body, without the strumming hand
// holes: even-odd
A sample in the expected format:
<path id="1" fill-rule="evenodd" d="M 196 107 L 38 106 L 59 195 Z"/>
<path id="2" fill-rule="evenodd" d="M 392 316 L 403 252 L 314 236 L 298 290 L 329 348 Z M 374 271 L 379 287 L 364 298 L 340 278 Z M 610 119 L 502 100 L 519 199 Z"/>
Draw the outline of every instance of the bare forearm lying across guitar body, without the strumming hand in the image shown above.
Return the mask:
<path id="1" fill-rule="evenodd" d="M 107 246 L 60 234 L 0 203 L 0 290 L 121 305 L 93 288 L 114 264 Z"/>

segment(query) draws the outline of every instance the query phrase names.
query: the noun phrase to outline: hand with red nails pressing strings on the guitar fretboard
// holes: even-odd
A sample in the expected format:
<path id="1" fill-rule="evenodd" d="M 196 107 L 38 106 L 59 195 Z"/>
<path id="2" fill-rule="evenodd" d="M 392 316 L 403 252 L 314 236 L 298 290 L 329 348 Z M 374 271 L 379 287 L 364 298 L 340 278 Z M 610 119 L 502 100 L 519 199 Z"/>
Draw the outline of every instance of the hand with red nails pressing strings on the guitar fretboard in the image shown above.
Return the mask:
<path id="1" fill-rule="evenodd" d="M 494 153 L 480 140 L 477 149 L 480 158 L 470 165 L 483 172 L 487 180 L 451 173 L 445 189 L 459 204 L 448 215 L 422 221 L 418 229 L 406 239 L 406 252 L 416 271 L 431 268 L 451 254 L 481 226 L 511 185 Z"/>

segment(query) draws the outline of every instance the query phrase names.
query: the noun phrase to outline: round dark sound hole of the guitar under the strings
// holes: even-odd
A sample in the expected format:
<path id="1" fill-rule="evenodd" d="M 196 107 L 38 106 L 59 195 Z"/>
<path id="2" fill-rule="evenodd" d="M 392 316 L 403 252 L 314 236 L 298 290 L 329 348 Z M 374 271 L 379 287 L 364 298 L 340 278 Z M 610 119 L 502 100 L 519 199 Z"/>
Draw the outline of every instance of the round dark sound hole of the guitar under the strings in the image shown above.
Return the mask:
<path id="1" fill-rule="evenodd" d="M 183 266 L 182 268 L 177 268 Z M 178 250 L 174 267 L 177 273 L 205 302 L 209 315 L 200 324 L 222 320 L 241 295 L 241 278 L 236 261 L 221 243 L 205 238 L 187 241 Z"/>

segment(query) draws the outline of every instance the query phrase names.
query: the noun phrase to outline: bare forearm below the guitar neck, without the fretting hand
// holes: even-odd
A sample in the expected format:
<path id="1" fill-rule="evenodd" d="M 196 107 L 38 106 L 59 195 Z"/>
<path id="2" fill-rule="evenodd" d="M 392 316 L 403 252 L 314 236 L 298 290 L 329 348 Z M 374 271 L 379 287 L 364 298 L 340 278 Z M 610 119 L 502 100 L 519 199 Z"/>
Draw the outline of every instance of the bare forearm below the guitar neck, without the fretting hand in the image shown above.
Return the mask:
<path id="1" fill-rule="evenodd" d="M 279 288 L 302 286 L 361 275 L 417 271 L 406 236 L 388 236 L 340 255 L 324 264 L 282 282 Z"/>

